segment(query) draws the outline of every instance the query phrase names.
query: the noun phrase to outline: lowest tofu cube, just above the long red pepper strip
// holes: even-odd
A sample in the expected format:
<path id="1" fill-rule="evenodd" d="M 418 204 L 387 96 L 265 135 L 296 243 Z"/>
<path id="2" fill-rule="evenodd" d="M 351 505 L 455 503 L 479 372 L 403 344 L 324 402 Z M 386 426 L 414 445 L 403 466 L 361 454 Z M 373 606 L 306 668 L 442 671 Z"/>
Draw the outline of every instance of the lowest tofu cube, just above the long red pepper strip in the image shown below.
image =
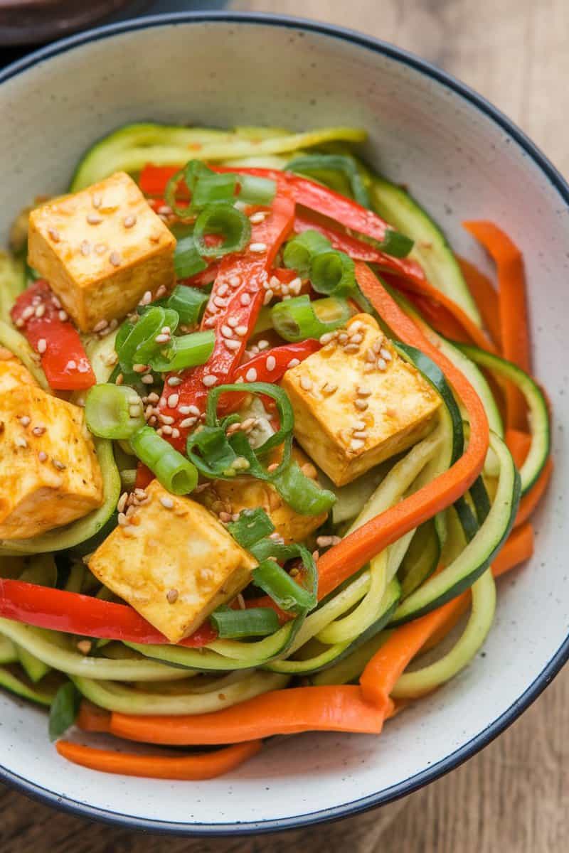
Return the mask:
<path id="1" fill-rule="evenodd" d="M 257 560 L 199 503 L 171 495 L 158 480 L 146 492 L 89 568 L 175 643 L 247 586 Z"/>

